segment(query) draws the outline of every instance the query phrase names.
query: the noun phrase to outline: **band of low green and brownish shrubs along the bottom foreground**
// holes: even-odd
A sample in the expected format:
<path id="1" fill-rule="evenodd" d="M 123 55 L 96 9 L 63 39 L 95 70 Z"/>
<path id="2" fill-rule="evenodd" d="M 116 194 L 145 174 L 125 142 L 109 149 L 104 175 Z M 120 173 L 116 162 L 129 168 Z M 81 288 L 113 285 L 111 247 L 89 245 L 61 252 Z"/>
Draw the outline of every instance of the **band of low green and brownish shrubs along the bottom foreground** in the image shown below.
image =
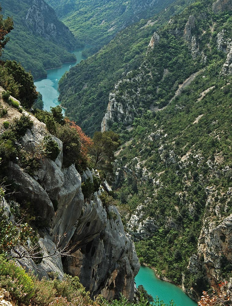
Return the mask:
<path id="1" fill-rule="evenodd" d="M 148 300 L 140 296 L 136 304 L 129 302 L 125 297 L 108 302 L 102 296 L 91 300 L 89 292 L 80 283 L 77 276 L 65 275 L 63 280 L 39 281 L 35 276 L 27 274 L 22 267 L 13 261 L 0 256 L 0 286 L 6 288 L 16 299 L 17 303 L 26 303 L 37 306 L 146 306 Z M 152 306 L 168 306 L 156 298 Z M 169 306 L 175 306 L 170 302 Z"/>

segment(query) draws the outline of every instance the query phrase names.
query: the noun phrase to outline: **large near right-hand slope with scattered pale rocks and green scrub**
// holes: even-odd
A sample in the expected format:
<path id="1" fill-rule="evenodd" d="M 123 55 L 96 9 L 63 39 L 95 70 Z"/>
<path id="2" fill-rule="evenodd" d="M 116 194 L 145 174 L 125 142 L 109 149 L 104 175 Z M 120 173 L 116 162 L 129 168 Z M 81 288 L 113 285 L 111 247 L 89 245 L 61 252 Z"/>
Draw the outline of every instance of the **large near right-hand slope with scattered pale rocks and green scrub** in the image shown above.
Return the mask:
<path id="1" fill-rule="evenodd" d="M 196 299 L 232 279 L 231 8 L 197 2 L 154 33 L 102 126 L 127 126 L 115 188 L 140 261 Z"/>

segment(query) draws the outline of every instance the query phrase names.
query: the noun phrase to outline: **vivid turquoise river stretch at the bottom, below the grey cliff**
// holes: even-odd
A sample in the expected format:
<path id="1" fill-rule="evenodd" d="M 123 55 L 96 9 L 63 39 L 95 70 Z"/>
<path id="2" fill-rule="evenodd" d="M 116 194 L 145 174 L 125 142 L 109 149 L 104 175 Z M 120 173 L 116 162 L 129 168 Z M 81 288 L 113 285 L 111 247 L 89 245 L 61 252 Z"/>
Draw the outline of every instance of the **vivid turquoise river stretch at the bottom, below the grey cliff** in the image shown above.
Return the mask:
<path id="1" fill-rule="evenodd" d="M 197 306 L 197 303 L 191 300 L 180 288 L 160 280 L 155 276 L 154 271 L 148 267 L 140 267 L 135 282 L 137 286 L 143 285 L 154 299 L 158 296 L 159 300 L 163 300 L 166 304 L 173 300 L 176 306 Z"/>

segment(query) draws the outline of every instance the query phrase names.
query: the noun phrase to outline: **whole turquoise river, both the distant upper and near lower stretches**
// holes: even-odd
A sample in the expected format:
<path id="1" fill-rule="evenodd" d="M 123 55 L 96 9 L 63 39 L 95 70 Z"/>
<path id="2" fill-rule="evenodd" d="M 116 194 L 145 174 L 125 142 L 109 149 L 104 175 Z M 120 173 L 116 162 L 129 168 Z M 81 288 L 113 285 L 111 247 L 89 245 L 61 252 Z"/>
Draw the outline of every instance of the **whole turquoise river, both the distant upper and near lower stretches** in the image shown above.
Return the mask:
<path id="1" fill-rule="evenodd" d="M 44 110 L 50 111 L 50 106 L 54 107 L 60 104 L 58 102 L 58 81 L 66 71 L 84 59 L 81 50 L 76 50 L 73 53 L 77 57 L 77 62 L 65 63 L 61 68 L 49 69 L 47 70 L 46 79 L 37 79 L 35 81 L 37 91 L 43 96 Z M 141 266 L 135 281 L 137 286 L 143 285 L 149 294 L 154 298 L 158 296 L 166 304 L 173 300 L 176 306 L 197 305 L 180 288 L 157 278 L 154 271 L 148 267 Z"/>

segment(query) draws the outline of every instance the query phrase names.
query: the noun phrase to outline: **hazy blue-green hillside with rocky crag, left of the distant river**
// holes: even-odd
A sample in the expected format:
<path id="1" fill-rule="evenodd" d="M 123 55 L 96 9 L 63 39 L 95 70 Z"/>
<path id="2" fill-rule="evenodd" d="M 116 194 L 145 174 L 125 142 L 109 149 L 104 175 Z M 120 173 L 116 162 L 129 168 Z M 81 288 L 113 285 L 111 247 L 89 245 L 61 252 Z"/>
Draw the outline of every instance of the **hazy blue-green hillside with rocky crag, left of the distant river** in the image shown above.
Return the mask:
<path id="1" fill-rule="evenodd" d="M 75 62 L 67 50 L 80 43 L 43 0 L 2 0 L 1 6 L 2 13 L 13 16 L 14 21 L 2 60 L 21 62 L 35 78 L 46 76 L 45 69 L 62 62 Z"/>

